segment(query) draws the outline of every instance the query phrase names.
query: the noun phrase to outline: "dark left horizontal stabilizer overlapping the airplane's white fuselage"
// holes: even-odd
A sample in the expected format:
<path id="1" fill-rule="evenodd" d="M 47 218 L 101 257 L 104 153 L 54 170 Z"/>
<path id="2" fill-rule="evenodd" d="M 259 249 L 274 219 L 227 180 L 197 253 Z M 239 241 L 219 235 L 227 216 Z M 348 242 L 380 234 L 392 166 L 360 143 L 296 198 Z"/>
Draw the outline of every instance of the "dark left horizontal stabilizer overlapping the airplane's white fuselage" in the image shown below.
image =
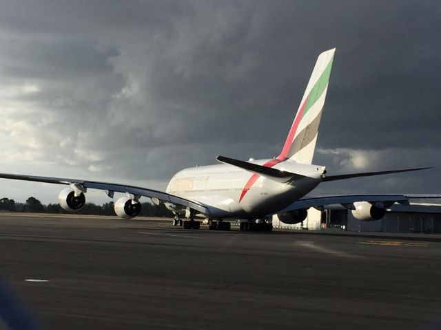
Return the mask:
<path id="1" fill-rule="evenodd" d="M 232 159 L 223 156 L 218 156 L 216 157 L 216 159 L 219 162 L 237 166 L 239 168 L 243 168 L 244 170 L 248 170 L 249 172 L 256 173 L 258 175 L 262 175 L 263 177 L 267 177 L 268 179 L 271 179 L 273 181 L 286 183 L 305 177 L 305 175 L 291 173 L 285 170 L 278 170 L 276 168 L 270 168 L 267 166 L 261 166 L 249 162 L 243 162 L 242 160 L 238 160 L 238 159 Z"/>

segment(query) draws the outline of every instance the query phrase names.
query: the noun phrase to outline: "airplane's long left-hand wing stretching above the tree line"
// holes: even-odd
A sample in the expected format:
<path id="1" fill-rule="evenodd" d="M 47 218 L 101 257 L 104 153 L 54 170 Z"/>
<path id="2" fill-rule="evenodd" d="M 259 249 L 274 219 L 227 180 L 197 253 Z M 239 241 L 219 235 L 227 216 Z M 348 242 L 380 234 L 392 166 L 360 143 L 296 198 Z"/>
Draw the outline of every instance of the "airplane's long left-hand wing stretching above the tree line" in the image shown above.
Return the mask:
<path id="1" fill-rule="evenodd" d="M 82 186 L 83 188 L 105 190 L 107 195 L 109 195 L 109 192 L 127 192 L 132 195 L 157 198 L 160 199 L 161 201 L 166 201 L 169 203 L 174 203 L 182 206 L 188 206 L 189 208 L 197 210 L 198 212 L 209 214 L 209 209 L 201 203 L 195 203 L 194 201 L 189 201 L 188 199 L 167 194 L 167 192 L 161 192 L 158 190 L 152 190 L 147 188 L 126 186 L 123 184 L 111 184 L 111 183 L 99 182 L 99 181 L 88 181 L 81 179 L 65 179 L 61 177 L 38 177 L 33 175 L 17 175 L 17 174 L 7 174 L 7 173 L 0 173 L 0 178 L 45 182 L 48 184 L 67 184 L 67 185 L 76 184 Z"/>

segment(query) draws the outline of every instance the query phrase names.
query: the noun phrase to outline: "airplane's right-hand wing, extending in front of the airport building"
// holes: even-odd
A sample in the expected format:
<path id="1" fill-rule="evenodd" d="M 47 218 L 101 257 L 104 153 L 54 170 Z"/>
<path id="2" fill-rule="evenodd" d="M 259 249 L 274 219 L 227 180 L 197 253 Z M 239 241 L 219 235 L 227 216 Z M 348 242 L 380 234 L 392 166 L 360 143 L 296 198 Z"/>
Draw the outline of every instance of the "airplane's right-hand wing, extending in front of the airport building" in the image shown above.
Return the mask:
<path id="1" fill-rule="evenodd" d="M 292 210 L 299 210 L 301 208 L 321 208 L 330 205 L 340 204 L 342 206 L 350 205 L 356 201 L 368 202 L 398 202 L 400 204 L 409 204 L 409 199 L 427 199 L 427 198 L 441 198 L 441 195 L 338 195 L 326 197 L 304 197 L 298 201 L 294 201 L 280 212 L 288 212 Z"/>

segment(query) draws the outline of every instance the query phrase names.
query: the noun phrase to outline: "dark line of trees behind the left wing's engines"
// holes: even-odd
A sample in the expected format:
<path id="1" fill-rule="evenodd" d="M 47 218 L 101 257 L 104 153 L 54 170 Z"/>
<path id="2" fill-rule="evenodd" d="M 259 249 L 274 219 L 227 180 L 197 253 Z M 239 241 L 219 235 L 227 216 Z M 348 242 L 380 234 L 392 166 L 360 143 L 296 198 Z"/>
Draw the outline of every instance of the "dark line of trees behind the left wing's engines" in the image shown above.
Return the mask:
<path id="1" fill-rule="evenodd" d="M 152 203 L 141 203 L 142 210 L 139 216 L 141 217 L 173 217 L 173 213 L 165 208 L 161 203 L 159 206 Z M 45 205 L 35 197 L 29 197 L 25 203 L 14 201 L 6 197 L 0 199 L 0 211 L 10 212 L 37 212 L 37 213 L 55 213 L 55 214 L 70 214 L 70 212 L 63 210 L 58 203 L 49 203 Z M 114 203 L 109 201 L 103 205 L 96 205 L 94 203 L 85 203 L 78 214 L 90 215 L 115 215 Z"/>

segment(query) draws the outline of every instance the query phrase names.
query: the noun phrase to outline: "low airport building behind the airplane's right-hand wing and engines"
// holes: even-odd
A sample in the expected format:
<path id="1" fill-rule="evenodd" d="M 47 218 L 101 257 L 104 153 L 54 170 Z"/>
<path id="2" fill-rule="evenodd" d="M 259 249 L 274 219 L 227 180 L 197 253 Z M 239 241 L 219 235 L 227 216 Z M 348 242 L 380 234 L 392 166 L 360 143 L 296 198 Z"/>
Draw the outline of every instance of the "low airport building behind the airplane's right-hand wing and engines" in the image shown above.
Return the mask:
<path id="1" fill-rule="evenodd" d="M 386 209 L 384 217 L 376 221 L 361 221 L 353 217 L 351 210 L 331 208 L 320 212 L 309 208 L 307 218 L 302 223 L 287 225 L 274 215 L 273 227 L 293 230 L 338 229 L 351 232 L 415 232 L 441 233 L 441 205 L 414 203 L 394 204 Z"/>

